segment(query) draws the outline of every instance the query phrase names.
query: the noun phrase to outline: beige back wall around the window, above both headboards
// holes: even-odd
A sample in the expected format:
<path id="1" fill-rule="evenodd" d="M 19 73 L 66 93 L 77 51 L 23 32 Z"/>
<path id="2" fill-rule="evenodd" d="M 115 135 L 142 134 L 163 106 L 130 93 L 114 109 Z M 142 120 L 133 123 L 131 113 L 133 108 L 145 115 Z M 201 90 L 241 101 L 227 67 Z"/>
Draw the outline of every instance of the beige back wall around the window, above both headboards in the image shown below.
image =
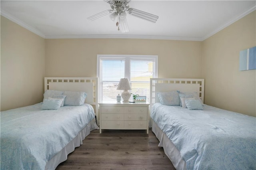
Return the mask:
<path id="1" fill-rule="evenodd" d="M 201 78 L 202 42 L 47 39 L 46 76 L 96 77 L 97 54 L 158 55 L 158 77 Z"/>

